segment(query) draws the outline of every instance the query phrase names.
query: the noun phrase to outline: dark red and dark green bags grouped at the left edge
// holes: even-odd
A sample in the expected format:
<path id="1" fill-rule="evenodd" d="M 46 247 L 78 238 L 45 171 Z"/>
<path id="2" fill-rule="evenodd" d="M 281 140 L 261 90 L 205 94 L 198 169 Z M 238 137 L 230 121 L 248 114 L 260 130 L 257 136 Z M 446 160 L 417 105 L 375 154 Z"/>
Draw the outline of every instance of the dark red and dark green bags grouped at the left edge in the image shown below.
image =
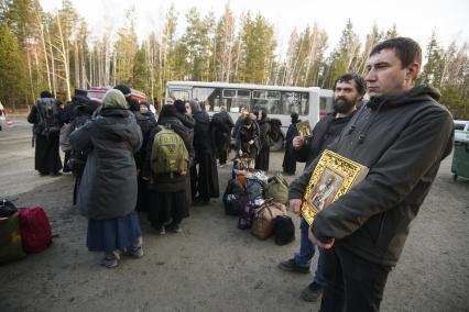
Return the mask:
<path id="1" fill-rule="evenodd" d="M 42 208 L 17 209 L 12 201 L 0 200 L 0 264 L 42 252 L 51 242 L 51 224 Z"/>

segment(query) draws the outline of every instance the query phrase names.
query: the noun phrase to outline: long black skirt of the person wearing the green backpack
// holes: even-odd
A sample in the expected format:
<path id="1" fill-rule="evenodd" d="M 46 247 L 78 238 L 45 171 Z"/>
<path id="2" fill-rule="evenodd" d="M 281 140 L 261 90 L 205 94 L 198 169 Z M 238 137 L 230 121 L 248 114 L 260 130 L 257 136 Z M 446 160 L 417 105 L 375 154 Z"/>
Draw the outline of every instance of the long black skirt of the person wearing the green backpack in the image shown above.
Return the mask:
<path id="1" fill-rule="evenodd" d="M 151 191 L 151 207 L 149 220 L 154 229 L 163 225 L 179 224 L 184 218 L 189 216 L 186 190 L 175 192 Z"/>

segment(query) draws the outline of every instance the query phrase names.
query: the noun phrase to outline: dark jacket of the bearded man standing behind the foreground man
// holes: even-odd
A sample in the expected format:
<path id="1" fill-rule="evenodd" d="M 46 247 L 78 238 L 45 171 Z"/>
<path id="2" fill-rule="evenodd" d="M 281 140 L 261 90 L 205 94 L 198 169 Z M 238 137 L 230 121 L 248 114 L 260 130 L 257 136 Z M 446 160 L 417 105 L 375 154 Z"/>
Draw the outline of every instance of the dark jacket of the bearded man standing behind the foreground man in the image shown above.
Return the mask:
<path id="1" fill-rule="evenodd" d="M 313 136 L 308 137 L 305 144 L 296 151 L 291 145 L 291 149 L 296 157 L 296 161 L 306 163 L 306 167 L 342 132 L 356 112 L 346 118 L 336 119 L 335 114 L 328 114 L 319 120 L 313 129 Z"/>

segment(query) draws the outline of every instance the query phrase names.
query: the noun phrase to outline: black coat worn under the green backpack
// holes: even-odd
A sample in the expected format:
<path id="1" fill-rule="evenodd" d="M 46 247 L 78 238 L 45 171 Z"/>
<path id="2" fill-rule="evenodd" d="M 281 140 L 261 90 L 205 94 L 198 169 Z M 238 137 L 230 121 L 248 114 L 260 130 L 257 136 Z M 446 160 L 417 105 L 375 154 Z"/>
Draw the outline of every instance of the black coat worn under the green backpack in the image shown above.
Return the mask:
<path id="1" fill-rule="evenodd" d="M 159 125 L 170 126 L 177 133 L 184 141 L 184 144 L 189 151 L 190 142 L 186 127 L 176 116 L 166 116 L 160 118 L 157 121 Z M 175 192 L 181 191 L 186 188 L 186 176 L 182 176 L 178 174 L 154 174 L 151 169 L 151 157 L 152 157 L 152 148 L 153 141 L 156 135 L 161 131 L 161 126 L 156 126 L 152 130 L 149 138 L 149 144 L 146 145 L 145 160 L 142 165 L 142 176 L 150 178 L 151 182 L 149 185 L 150 189 L 157 190 L 159 192 Z"/>

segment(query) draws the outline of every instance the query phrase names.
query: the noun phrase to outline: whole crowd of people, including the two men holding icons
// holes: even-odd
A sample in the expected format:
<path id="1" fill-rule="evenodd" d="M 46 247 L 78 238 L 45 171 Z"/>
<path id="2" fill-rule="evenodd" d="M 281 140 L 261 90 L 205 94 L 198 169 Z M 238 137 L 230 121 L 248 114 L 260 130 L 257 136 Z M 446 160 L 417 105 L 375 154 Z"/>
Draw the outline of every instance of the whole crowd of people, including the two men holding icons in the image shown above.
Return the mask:
<path id="1" fill-rule="evenodd" d="M 337 78 L 334 113 L 314 125 L 312 136 L 299 136 L 299 116 L 291 115 L 283 171 L 294 175 L 296 163 L 306 163 L 290 186 L 294 213 L 301 215 L 302 198 L 326 148 L 369 168 L 310 225 L 301 218 L 299 252 L 279 265 L 308 274 L 318 250 L 313 281 L 301 297 L 321 299 L 320 311 L 379 311 L 410 223 L 452 148 L 452 120 L 437 102 L 439 92 L 415 83 L 421 66 L 415 41 L 384 41 L 371 51 L 364 78 Z M 370 100 L 362 104 L 367 92 Z M 50 121 L 48 114 L 57 119 Z M 76 123 L 80 115 L 88 121 Z M 100 264 L 107 267 L 116 267 L 122 255 L 143 256 L 135 210 L 146 211 L 160 234 L 177 233 L 190 204 L 219 197 L 217 168 L 227 164 L 231 137 L 237 156 L 249 158 L 255 169 L 270 169 L 271 124 L 262 109 L 243 108 L 233 123 L 225 108 L 210 119 L 196 101 L 172 99 L 156 119 L 148 103 L 132 101 L 128 87 L 117 86 L 102 104 L 77 90 L 63 110 L 43 92 L 29 121 L 34 123 L 40 175 L 62 169 L 61 126 L 72 125 L 65 167 L 76 176 L 74 201 L 88 218 L 88 249 L 102 253 Z M 167 160 L 155 151 L 178 156 Z"/>

